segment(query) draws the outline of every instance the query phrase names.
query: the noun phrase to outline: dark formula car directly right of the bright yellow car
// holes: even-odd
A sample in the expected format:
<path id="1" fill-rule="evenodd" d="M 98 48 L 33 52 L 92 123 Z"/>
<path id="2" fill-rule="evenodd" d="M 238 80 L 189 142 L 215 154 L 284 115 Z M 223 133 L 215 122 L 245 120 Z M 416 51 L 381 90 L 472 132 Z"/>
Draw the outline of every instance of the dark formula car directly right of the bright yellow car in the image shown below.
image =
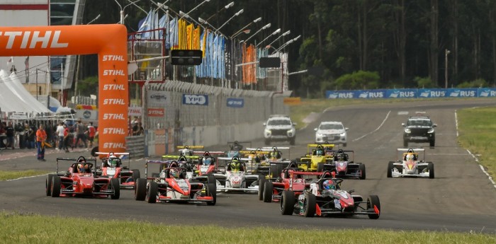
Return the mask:
<path id="1" fill-rule="evenodd" d="M 348 153 L 351 153 L 351 157 Z M 365 165 L 354 162 L 354 153 L 353 150 L 338 149 L 332 155 L 332 162 L 325 163 L 323 170 L 335 172 L 338 178 L 365 180 Z"/>

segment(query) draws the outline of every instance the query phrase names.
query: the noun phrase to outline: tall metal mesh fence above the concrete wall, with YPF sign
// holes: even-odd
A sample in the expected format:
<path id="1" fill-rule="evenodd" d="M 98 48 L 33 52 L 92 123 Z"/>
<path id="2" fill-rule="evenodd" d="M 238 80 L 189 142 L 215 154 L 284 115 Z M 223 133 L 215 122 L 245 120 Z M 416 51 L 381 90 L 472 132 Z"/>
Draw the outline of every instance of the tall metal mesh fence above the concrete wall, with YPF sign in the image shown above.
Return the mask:
<path id="1" fill-rule="evenodd" d="M 143 124 L 164 129 L 263 122 L 272 114 L 288 114 L 283 98 L 289 95 L 181 81 L 150 83 L 143 87 Z"/>

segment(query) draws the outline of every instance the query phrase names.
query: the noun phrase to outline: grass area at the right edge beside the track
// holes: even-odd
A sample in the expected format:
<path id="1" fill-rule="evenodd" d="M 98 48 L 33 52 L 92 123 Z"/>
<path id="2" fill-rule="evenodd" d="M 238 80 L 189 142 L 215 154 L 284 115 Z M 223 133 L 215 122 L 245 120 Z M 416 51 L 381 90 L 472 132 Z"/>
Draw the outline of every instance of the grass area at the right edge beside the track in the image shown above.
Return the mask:
<path id="1" fill-rule="evenodd" d="M 496 175 L 496 108 L 458 110 L 458 143 Z"/>

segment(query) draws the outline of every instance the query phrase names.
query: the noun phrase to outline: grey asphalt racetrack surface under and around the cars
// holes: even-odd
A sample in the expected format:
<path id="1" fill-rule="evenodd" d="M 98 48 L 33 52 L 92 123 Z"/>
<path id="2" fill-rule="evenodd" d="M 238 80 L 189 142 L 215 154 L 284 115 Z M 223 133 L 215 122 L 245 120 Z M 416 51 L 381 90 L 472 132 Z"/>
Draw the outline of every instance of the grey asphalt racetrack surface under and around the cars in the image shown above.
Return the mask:
<path id="1" fill-rule="evenodd" d="M 0 182 L 0 209 L 56 216 L 84 216 L 93 219 L 128 219 L 166 224 L 225 227 L 271 226 L 280 228 L 381 228 L 392 230 L 455 231 L 496 233 L 496 189 L 466 149 L 456 142 L 456 110 L 494 106 L 495 99 L 420 101 L 382 105 L 352 105 L 323 112 L 315 122 L 297 133 L 297 145 L 290 155 L 297 158 L 315 139 L 313 128 L 320 121 L 342 121 L 349 127 L 348 146 L 355 161 L 366 165 L 366 180 L 344 180 L 342 188 L 381 199 L 381 218 L 304 218 L 282 216 L 278 204 L 264 203 L 257 194 L 218 194 L 217 204 L 148 204 L 133 199 L 133 190 L 121 190 L 120 199 L 52 198 L 45 196 L 45 178 L 39 176 Z M 386 178 L 388 161 L 395 161 L 402 148 L 402 122 L 417 111 L 425 111 L 438 124 L 436 146 L 423 147 L 426 161 L 434 163 L 435 178 Z M 262 133 L 262 132 L 256 132 Z M 243 139 L 238 139 L 242 141 Z M 263 140 L 252 146 L 264 146 Z M 286 142 L 274 146 L 288 146 Z M 227 150 L 214 146 L 213 150 Z M 46 162 L 35 159 L 35 151 L 1 151 L 0 170 L 54 170 L 59 156 L 88 156 L 89 151 L 49 151 Z M 131 168 L 144 175 L 144 159 L 133 159 Z M 65 168 L 68 165 L 64 166 Z M 62 167 L 62 168 L 64 168 Z"/>

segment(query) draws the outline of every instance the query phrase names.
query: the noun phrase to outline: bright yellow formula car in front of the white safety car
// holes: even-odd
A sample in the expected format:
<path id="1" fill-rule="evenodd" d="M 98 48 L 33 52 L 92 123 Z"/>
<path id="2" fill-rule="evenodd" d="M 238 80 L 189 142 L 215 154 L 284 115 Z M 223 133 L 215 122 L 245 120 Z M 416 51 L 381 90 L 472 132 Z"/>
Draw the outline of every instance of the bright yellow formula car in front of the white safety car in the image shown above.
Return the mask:
<path id="1" fill-rule="evenodd" d="M 299 167 L 305 171 L 322 172 L 325 163 L 332 163 L 334 144 L 308 144 L 307 154 L 300 158 Z"/>

